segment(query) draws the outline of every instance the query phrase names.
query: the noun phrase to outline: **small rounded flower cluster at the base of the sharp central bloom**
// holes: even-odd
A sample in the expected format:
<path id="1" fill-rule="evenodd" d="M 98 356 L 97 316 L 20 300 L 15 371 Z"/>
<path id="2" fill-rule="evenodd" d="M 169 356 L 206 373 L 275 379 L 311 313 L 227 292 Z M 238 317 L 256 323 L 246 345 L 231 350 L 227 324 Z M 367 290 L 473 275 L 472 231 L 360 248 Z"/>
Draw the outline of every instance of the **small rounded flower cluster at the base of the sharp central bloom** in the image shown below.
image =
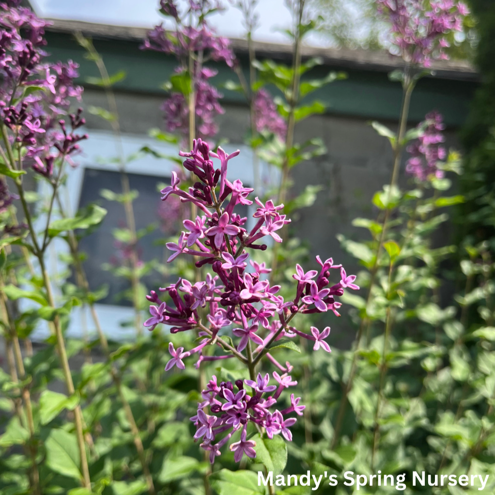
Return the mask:
<path id="1" fill-rule="evenodd" d="M 289 429 L 297 419 L 287 418 L 288 414 L 295 412 L 301 416 L 304 405 L 299 405 L 300 397 L 291 395 L 291 405 L 282 411 L 275 409 L 270 411 L 276 404 L 282 391 L 297 385 L 287 373 L 280 376 L 273 372 L 273 378 L 278 386 L 269 385 L 268 373 L 262 377 L 258 373 L 256 381 L 237 380 L 232 382 L 217 383 L 215 375 L 211 378 L 206 389 L 202 391 L 203 401 L 198 403 L 198 412 L 191 418 L 196 425 L 195 440 L 202 440 L 201 447 L 209 451 L 210 462 L 213 464 L 215 457 L 220 455 L 220 449 L 229 442 L 232 436 L 241 432 L 241 439 L 230 445 L 234 452 L 234 460 L 239 462 L 243 455 L 256 457 L 254 447 L 256 443 L 247 440 L 247 424 L 251 422 L 255 428 L 264 428 L 268 438 L 282 434 L 287 441 L 292 441 L 292 432 Z M 244 386 L 251 389 L 249 393 Z M 236 387 L 237 391 L 234 389 Z M 272 395 L 268 395 L 275 392 Z M 204 409 L 209 407 L 211 414 L 206 414 Z M 224 435 L 218 440 L 219 435 Z"/>

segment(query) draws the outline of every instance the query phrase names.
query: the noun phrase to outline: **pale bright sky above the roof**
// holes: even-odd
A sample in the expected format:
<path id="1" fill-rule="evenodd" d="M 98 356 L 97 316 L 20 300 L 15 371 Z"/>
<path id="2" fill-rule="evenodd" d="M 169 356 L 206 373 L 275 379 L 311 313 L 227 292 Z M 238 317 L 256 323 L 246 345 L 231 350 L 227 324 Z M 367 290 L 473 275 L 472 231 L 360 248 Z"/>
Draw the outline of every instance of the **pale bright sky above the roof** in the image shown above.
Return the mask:
<path id="1" fill-rule="evenodd" d="M 179 0 L 179 4 L 184 1 Z M 41 17 L 136 27 L 152 27 L 164 20 L 158 13 L 158 3 L 158 0 L 31 0 L 33 8 Z M 228 4 L 227 1 L 224 3 Z M 288 38 L 279 32 L 291 24 L 291 15 L 284 0 L 260 0 L 256 11 L 259 13 L 260 25 L 254 39 L 288 43 Z M 241 13 L 231 5 L 224 12 L 213 14 L 210 24 L 222 36 L 244 37 Z M 308 44 L 323 46 L 325 43 L 313 37 L 308 39 Z"/>

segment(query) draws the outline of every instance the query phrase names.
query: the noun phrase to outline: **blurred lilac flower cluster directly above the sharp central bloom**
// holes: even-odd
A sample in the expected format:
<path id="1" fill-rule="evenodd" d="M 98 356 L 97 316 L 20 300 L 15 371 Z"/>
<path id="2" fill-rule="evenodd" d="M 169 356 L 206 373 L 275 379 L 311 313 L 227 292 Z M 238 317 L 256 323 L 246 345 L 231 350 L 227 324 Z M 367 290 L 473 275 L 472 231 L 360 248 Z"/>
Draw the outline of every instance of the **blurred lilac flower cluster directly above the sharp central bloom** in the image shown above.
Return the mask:
<path id="1" fill-rule="evenodd" d="M 218 127 L 214 118 L 224 112 L 218 100 L 222 95 L 209 83 L 216 71 L 207 69 L 203 64 L 209 59 L 223 61 L 233 67 L 236 59 L 227 38 L 216 36 L 208 26 L 206 17 L 222 8 L 218 1 L 189 0 L 189 8 L 181 16 L 172 0 L 161 0 L 160 12 L 172 17 L 176 23 L 175 32 L 167 32 L 163 25 L 155 26 L 148 32 L 144 49 L 152 49 L 174 54 L 180 62 L 176 72 L 189 74 L 194 87 L 194 108 L 198 120 L 197 134 L 203 139 L 215 136 Z M 186 24 L 186 19 L 189 24 Z M 193 64 L 191 65 L 191 60 Z M 173 91 L 162 105 L 167 131 L 179 131 L 184 137 L 189 134 L 189 101 L 191 95 Z"/>

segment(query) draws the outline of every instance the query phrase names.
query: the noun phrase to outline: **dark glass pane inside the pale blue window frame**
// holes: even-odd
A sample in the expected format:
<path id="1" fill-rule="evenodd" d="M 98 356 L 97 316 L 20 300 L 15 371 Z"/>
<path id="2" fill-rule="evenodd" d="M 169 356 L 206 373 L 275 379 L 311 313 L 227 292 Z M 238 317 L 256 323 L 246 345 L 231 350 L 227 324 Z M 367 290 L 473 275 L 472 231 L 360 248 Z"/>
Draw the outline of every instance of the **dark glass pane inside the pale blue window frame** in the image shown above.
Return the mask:
<path id="1" fill-rule="evenodd" d="M 131 190 L 139 192 L 139 197 L 133 202 L 136 229 L 144 229 L 150 224 L 157 226 L 153 232 L 139 240 L 140 260 L 147 262 L 158 259 L 165 263 L 171 252 L 164 245 L 157 245 L 157 241 L 162 241 L 170 236 L 178 236 L 178 233 L 184 230 L 182 220 L 187 218 L 184 215 L 188 214 L 189 208 L 173 195 L 169 196 L 166 201 L 160 200 L 157 184 L 170 184 L 170 178 L 141 174 L 127 174 L 127 177 Z M 104 263 L 118 266 L 127 262 L 125 249 L 115 241 L 113 236 L 114 229 L 125 228 L 126 226 L 124 205 L 117 201 L 101 198 L 100 191 L 102 189 L 120 193 L 122 191 L 120 173 L 86 168 L 79 207 L 82 208 L 96 201 L 108 213 L 99 228 L 80 242 L 81 251 L 87 254 L 84 266 L 91 290 L 95 291 L 103 284 L 109 286 L 108 296 L 99 300 L 99 303 L 130 306 L 130 301 L 121 296 L 123 291 L 130 289 L 128 280 L 116 277 L 111 272 L 101 268 Z M 247 216 L 245 205 L 238 204 L 235 211 L 243 217 Z M 152 270 L 143 277 L 142 282 L 149 290 L 164 287 L 172 280 L 167 280 L 163 275 Z"/>

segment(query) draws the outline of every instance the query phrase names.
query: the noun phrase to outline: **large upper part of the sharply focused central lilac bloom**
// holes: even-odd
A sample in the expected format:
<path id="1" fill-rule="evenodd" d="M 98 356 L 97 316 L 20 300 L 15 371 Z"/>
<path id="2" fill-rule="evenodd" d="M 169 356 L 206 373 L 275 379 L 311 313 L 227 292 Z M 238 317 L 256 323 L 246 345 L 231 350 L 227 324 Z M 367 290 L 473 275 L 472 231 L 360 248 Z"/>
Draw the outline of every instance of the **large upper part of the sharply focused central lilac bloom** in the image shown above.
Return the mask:
<path id="1" fill-rule="evenodd" d="M 235 158 L 238 152 L 228 155 L 221 148 L 212 153 L 206 143 L 200 139 L 194 142 L 190 152 L 180 152 L 185 158 L 184 167 L 193 172 L 198 182 L 188 191 L 181 189 L 179 176 L 172 174 L 171 186 L 162 190 L 162 199 L 171 201 L 178 198 L 182 202 L 191 202 L 202 212 L 195 221 L 184 220 L 189 233 L 182 232 L 177 243 L 167 243 L 172 251 L 168 261 L 177 256 L 188 255 L 198 257 L 196 266 L 211 265 L 213 276 L 194 285 L 180 279 L 176 284 L 160 289 L 163 297 L 152 291 L 148 300 L 151 317 L 145 322 L 150 329 L 158 324 L 170 327 L 172 334 L 199 329 L 209 344 L 214 344 L 220 352 L 203 356 L 202 347 L 197 347 L 184 354 L 184 357 L 198 354 L 198 363 L 204 360 L 225 359 L 232 351 L 222 347 L 218 332 L 231 327 L 230 335 L 235 339 L 235 350 L 244 352 L 248 345 L 252 346 L 253 358 L 265 355 L 282 373 L 287 373 L 290 365 L 283 366 L 266 352 L 266 347 L 283 337 L 308 339 L 315 342 L 315 347 L 326 350 L 323 337 L 314 333 L 304 333 L 289 325 L 289 321 L 297 313 L 322 313 L 328 310 L 337 316 L 341 303 L 336 297 L 343 295 L 345 289 L 357 290 L 355 276 L 347 275 L 341 265 L 334 265 L 333 259 L 324 262 L 316 257 L 320 270 L 304 272 L 297 265 L 294 278 L 297 289 L 294 298 L 284 299 L 278 294 L 280 286 L 271 285 L 261 275 L 269 273 L 264 263 L 258 264 L 249 259 L 250 250 L 266 249 L 260 244 L 266 235 L 273 237 L 274 224 L 280 227 L 290 222 L 282 213 L 283 205 L 274 205 L 272 201 L 262 203 L 256 201 L 259 208 L 253 214 L 256 224 L 248 231 L 246 218 L 234 213 L 235 206 L 249 201 L 251 189 L 244 188 L 241 181 L 230 183 L 225 179 L 229 159 Z M 215 165 L 213 160 L 218 160 Z M 218 167 L 218 168 L 216 168 Z M 223 192 L 221 185 L 223 184 Z M 236 184 L 236 186 L 234 186 Z M 230 211 L 230 213 L 229 213 Z M 278 237 L 278 236 L 277 236 Z M 278 240 L 282 241 L 279 237 Z M 254 268 L 247 272 L 247 261 Z M 341 269 L 340 280 L 330 283 L 331 268 Z M 199 308 L 205 308 L 205 319 L 201 321 Z M 206 325 L 206 326 L 205 326 Z M 329 332 L 329 330 L 328 330 Z M 317 346 L 318 344 L 318 346 Z M 211 353 L 209 353 L 211 354 Z M 239 357 L 239 356 L 237 356 Z M 261 356 L 260 356 L 261 357 Z"/>

